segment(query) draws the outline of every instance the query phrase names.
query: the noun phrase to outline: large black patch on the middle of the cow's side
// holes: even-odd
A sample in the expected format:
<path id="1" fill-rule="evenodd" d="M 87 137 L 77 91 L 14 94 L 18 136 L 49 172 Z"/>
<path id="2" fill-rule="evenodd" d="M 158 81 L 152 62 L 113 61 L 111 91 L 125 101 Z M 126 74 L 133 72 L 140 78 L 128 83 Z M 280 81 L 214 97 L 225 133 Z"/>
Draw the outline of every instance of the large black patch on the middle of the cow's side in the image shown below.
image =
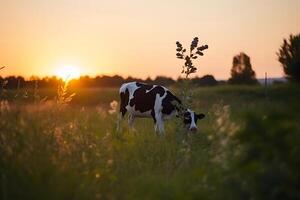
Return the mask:
<path id="1" fill-rule="evenodd" d="M 130 106 L 135 105 L 135 110 L 144 113 L 149 110 L 154 110 L 155 98 L 159 94 L 162 97 L 165 94 L 165 89 L 161 86 L 152 86 L 142 83 L 136 83 L 137 88 L 133 93 L 133 98 L 130 100 Z M 149 88 L 151 89 L 149 91 Z M 147 92 L 148 91 L 148 92 Z"/>

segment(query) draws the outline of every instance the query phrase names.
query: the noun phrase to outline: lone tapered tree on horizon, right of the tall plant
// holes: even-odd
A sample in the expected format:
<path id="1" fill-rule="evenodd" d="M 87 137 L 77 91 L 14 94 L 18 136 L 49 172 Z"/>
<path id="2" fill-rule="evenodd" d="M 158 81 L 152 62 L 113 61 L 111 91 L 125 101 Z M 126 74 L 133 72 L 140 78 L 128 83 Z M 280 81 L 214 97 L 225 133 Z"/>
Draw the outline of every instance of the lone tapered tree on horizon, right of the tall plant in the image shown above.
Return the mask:
<path id="1" fill-rule="evenodd" d="M 256 84 L 255 72 L 252 70 L 250 57 L 241 52 L 234 56 L 231 69 L 230 84 Z"/>

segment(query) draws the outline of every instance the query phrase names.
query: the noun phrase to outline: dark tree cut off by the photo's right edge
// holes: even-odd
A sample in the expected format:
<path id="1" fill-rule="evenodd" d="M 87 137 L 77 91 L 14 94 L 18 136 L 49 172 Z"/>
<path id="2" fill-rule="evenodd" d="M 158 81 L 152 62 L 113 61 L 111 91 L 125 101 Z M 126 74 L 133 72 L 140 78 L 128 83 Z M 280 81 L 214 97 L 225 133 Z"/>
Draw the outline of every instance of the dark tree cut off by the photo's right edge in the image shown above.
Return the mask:
<path id="1" fill-rule="evenodd" d="M 284 39 L 277 56 L 287 78 L 300 81 L 300 34 L 290 35 L 289 41 Z"/>

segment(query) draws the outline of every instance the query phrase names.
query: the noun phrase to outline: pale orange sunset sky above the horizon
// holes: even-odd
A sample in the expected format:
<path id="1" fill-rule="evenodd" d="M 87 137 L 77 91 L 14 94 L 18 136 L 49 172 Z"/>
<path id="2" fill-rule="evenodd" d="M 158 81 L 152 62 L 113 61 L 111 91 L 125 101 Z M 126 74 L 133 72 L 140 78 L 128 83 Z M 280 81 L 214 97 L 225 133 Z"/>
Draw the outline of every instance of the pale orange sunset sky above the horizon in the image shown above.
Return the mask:
<path id="1" fill-rule="evenodd" d="M 299 10 L 300 0 L 0 0 L 0 76 L 177 78 L 175 42 L 197 36 L 209 46 L 197 76 L 228 79 L 245 52 L 258 78 L 282 77 L 276 52 L 300 33 Z"/>

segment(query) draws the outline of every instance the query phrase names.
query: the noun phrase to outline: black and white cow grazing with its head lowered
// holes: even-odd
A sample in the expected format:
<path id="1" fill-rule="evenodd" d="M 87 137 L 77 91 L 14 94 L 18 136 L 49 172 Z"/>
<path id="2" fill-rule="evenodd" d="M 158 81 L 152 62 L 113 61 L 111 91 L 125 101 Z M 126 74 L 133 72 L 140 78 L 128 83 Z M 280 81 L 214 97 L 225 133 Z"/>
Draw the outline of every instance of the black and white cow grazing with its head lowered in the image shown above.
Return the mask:
<path id="1" fill-rule="evenodd" d="M 164 132 L 164 120 L 178 115 L 181 101 L 167 88 L 159 85 L 147 85 L 139 82 L 124 83 L 120 87 L 120 116 L 129 113 L 128 123 L 133 126 L 135 118 L 153 118 L 155 131 Z M 197 130 L 197 120 L 203 119 L 204 114 L 196 114 L 190 109 L 183 112 L 183 123 L 191 130 Z"/>

